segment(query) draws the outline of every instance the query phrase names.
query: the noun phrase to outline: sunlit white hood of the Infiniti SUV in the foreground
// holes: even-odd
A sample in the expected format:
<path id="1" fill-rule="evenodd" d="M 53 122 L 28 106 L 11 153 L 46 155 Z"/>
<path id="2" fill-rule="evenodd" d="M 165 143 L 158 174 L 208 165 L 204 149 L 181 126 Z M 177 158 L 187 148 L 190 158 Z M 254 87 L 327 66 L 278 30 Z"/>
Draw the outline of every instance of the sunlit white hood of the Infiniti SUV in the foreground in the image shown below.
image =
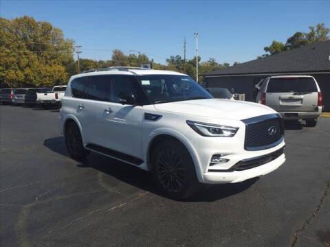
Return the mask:
<path id="1" fill-rule="evenodd" d="M 276 113 L 268 106 L 230 99 L 195 99 L 155 104 L 154 106 L 157 110 L 171 113 L 235 120 Z"/>

